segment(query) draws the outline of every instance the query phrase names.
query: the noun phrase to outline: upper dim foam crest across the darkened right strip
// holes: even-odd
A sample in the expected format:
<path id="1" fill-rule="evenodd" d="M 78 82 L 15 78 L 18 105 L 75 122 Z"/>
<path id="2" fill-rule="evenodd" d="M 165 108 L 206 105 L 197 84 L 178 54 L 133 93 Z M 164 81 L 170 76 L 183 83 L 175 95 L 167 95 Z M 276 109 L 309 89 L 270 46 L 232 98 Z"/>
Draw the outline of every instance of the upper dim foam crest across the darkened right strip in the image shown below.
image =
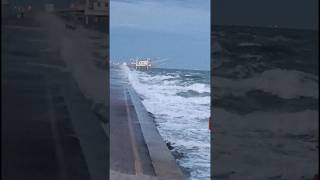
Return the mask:
<path id="1" fill-rule="evenodd" d="M 216 77 L 214 87 L 219 96 L 232 94 L 243 96 L 251 90 L 262 90 L 284 99 L 300 96 L 318 98 L 318 77 L 296 70 L 272 69 L 252 78 L 231 80 Z"/>

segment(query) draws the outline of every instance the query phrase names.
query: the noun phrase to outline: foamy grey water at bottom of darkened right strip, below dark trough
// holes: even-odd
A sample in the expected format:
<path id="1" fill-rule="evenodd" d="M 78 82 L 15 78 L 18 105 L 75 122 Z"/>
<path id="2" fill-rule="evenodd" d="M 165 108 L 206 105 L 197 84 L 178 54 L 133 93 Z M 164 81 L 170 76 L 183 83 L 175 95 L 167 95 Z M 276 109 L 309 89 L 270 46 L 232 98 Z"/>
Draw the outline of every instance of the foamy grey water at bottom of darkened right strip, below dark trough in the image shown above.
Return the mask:
<path id="1" fill-rule="evenodd" d="M 317 110 L 294 113 L 253 112 L 247 115 L 214 108 L 215 146 L 213 161 L 222 166 L 216 173 L 236 172 L 231 179 L 266 179 L 280 166 L 294 170 L 282 179 L 312 177 L 318 170 L 319 114 Z M 272 157 L 272 158 L 270 158 Z M 225 162 L 234 162 L 223 166 Z M 299 163 L 297 163 L 299 162 Z M 265 166 L 267 164 L 267 166 Z M 250 169 L 252 172 L 247 172 Z M 307 169 L 308 171 L 300 171 Z M 217 172 L 220 171 L 220 172 Z"/>

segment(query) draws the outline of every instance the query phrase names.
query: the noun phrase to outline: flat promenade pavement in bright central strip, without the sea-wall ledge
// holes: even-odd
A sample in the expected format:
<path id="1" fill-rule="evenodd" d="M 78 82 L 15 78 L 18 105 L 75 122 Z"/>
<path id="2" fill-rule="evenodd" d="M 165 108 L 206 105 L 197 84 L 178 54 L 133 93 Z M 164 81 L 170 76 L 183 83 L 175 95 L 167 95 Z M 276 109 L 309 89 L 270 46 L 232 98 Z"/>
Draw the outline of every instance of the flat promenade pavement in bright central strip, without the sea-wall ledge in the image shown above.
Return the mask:
<path id="1" fill-rule="evenodd" d="M 119 73 L 116 69 L 110 73 L 110 168 L 117 176 L 155 176 L 126 82 Z"/>

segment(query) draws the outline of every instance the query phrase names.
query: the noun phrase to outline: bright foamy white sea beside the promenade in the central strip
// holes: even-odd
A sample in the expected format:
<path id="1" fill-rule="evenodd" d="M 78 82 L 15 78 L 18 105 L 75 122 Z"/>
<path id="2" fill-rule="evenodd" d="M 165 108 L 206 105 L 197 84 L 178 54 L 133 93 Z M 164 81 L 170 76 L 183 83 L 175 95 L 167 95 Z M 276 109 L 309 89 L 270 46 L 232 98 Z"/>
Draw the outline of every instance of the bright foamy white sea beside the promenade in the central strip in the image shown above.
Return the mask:
<path id="1" fill-rule="evenodd" d="M 121 68 L 189 179 L 209 179 L 209 71 Z"/>

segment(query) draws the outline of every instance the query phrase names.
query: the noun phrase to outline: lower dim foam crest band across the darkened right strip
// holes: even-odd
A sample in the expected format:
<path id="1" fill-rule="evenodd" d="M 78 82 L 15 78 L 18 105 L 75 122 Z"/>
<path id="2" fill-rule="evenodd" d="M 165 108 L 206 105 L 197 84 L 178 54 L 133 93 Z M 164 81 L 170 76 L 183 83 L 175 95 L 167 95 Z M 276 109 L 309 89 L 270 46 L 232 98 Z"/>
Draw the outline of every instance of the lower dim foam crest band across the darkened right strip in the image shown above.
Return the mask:
<path id="1" fill-rule="evenodd" d="M 300 112 L 253 112 L 247 115 L 231 113 L 222 108 L 213 110 L 215 118 L 223 127 L 220 129 L 238 131 L 245 129 L 268 130 L 277 134 L 308 134 L 318 131 L 318 111 Z M 231 128 L 232 127 L 232 128 Z M 315 134 L 316 135 L 316 134 Z"/>

